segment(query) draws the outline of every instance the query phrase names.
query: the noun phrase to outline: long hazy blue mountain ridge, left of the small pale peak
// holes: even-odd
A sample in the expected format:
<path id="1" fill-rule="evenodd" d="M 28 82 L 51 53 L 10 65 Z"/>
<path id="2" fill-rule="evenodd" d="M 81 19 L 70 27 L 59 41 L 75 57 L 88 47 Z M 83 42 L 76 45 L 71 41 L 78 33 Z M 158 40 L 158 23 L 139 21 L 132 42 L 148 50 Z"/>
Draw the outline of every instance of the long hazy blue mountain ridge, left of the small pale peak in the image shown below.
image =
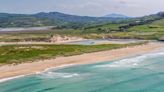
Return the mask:
<path id="1" fill-rule="evenodd" d="M 41 13 L 34 14 L 33 16 L 37 18 L 48 18 L 52 20 L 62 20 L 65 22 L 73 22 L 73 23 L 98 23 L 98 22 L 109 22 L 109 21 L 122 19 L 122 18 L 77 16 L 77 15 L 64 14 L 60 12 L 49 12 L 49 13 L 41 12 Z"/>

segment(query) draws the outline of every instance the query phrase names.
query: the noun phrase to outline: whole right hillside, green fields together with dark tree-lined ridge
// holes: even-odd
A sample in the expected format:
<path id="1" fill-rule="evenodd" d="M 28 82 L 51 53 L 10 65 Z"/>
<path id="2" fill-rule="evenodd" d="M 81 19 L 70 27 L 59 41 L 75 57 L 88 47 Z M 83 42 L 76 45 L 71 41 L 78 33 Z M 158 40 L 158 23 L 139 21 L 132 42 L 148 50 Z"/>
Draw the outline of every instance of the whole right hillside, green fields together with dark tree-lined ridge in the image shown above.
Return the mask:
<path id="1" fill-rule="evenodd" d="M 78 35 L 85 38 L 161 40 L 164 38 L 164 13 L 160 12 L 116 23 L 91 25 L 82 30 L 65 30 L 61 34 Z"/>

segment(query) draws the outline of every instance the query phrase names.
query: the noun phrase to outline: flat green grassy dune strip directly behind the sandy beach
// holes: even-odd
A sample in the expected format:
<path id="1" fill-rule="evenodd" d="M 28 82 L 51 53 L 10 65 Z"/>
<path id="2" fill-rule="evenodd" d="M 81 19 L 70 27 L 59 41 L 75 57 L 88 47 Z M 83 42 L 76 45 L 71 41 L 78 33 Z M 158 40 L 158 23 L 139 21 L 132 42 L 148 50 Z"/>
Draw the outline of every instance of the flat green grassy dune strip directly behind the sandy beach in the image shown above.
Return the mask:
<path id="1" fill-rule="evenodd" d="M 133 44 L 107 44 L 107 45 L 7 45 L 0 46 L 0 64 L 17 64 L 38 59 L 55 58 L 58 56 L 71 56 L 103 50 L 111 50 Z"/>

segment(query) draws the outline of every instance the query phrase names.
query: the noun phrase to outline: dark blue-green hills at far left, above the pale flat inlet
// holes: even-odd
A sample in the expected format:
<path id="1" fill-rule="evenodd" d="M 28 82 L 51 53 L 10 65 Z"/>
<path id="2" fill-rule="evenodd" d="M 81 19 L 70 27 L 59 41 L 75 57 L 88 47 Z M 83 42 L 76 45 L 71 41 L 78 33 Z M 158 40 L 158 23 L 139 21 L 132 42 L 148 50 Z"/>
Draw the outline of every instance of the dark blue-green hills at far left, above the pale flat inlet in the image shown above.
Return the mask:
<path id="1" fill-rule="evenodd" d="M 8 14 L 0 13 L 0 27 L 38 27 L 53 26 L 60 23 L 58 20 L 37 18 L 28 14 Z"/>

